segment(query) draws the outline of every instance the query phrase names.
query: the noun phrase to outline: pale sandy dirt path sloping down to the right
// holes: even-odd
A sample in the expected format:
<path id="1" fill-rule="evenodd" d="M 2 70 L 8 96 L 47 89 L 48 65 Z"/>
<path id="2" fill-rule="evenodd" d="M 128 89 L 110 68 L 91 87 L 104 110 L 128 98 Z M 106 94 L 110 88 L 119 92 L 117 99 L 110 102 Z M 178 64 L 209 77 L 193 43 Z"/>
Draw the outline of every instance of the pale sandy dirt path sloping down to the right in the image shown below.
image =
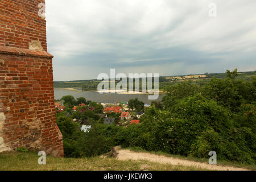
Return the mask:
<path id="1" fill-rule="evenodd" d="M 167 157 L 163 155 L 149 154 L 146 152 L 134 152 L 130 150 L 119 150 L 117 155 L 118 160 L 148 160 L 154 163 L 161 164 L 172 164 L 172 165 L 181 165 L 181 166 L 192 166 L 199 167 L 210 170 L 220 170 L 220 171 L 246 171 L 245 168 L 237 168 L 230 166 L 216 166 L 206 163 L 193 162 L 191 160 L 184 160 L 178 158 Z"/>

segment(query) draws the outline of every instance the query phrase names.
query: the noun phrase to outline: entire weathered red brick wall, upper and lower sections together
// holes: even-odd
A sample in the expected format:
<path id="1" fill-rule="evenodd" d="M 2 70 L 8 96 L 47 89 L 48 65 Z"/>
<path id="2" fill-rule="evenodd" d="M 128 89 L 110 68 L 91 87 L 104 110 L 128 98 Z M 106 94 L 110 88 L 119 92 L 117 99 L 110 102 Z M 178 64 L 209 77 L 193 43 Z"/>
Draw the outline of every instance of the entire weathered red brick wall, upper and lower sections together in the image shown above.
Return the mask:
<path id="1" fill-rule="evenodd" d="M 0 152 L 26 147 L 63 156 L 56 124 L 44 0 L 0 1 Z"/>

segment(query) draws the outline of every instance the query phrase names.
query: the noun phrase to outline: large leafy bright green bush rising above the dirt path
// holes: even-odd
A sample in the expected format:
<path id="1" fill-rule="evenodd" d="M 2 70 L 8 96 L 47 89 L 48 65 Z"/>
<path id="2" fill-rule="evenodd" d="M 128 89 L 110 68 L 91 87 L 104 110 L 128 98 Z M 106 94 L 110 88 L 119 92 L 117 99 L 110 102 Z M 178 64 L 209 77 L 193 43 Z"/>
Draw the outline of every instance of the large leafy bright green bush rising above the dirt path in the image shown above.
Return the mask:
<path id="1" fill-rule="evenodd" d="M 151 107 L 145 115 L 140 126 L 143 129 L 129 139 L 137 142 L 130 146 L 198 158 L 208 158 L 209 151 L 216 151 L 219 159 L 255 161 L 252 130 L 236 128 L 229 110 L 200 94 L 183 98 L 170 111 Z M 132 137 L 132 131 L 129 133 Z M 139 143 L 142 138 L 144 144 Z"/>

